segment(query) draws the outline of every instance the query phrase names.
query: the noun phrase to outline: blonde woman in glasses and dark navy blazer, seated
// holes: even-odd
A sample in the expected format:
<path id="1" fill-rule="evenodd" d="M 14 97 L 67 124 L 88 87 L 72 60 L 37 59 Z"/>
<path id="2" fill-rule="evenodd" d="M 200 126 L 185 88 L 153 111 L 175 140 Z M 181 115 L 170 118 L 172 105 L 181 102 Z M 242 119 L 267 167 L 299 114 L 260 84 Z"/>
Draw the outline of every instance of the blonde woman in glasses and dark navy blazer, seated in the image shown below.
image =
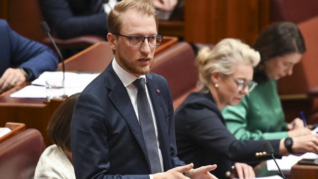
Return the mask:
<path id="1" fill-rule="evenodd" d="M 190 93 L 175 114 L 178 157 L 195 167 L 210 163 L 218 168 L 211 173 L 218 178 L 254 178 L 245 163 L 269 159 L 261 140 L 237 140 L 226 127 L 221 110 L 237 105 L 255 87 L 253 67 L 260 61 L 257 51 L 239 40 L 224 39 L 209 49 L 202 49 L 199 67 L 199 92 Z M 318 134 L 293 137 L 295 152 L 318 153 Z M 275 157 L 288 155 L 284 139 L 270 140 Z M 257 155 L 255 155 L 257 154 Z M 234 174 L 231 175 L 232 165 Z"/>

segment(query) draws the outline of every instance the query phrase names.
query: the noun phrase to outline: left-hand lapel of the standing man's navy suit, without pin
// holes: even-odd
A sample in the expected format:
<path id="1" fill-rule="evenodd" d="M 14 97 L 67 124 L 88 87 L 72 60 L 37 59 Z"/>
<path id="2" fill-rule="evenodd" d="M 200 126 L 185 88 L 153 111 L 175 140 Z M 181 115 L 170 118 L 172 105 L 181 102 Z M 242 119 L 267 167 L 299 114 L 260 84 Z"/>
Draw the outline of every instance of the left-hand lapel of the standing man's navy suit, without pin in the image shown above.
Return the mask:
<path id="1" fill-rule="evenodd" d="M 129 98 L 126 88 L 121 83 L 120 79 L 114 72 L 114 69 L 110 63 L 107 70 L 109 73 L 105 75 L 106 87 L 112 91 L 109 93 L 108 97 L 113 102 L 114 106 L 118 112 L 123 116 L 126 123 L 128 124 L 132 134 L 135 136 L 150 169 L 150 162 L 146 151 L 146 145 L 142 136 L 141 128 L 136 117 L 136 113 L 132 102 Z"/>

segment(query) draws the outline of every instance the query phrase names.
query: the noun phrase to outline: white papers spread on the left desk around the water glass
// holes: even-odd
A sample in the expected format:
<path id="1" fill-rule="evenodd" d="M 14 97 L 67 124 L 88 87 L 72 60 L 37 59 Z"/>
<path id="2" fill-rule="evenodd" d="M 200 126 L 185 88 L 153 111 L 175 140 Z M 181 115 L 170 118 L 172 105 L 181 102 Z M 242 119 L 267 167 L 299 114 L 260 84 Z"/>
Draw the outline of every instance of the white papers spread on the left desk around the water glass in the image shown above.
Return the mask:
<path id="1" fill-rule="evenodd" d="M 73 73 L 65 72 L 65 94 L 70 96 L 72 94 L 82 92 L 87 85 L 95 79 L 99 73 Z M 40 77 L 31 85 L 12 93 L 10 97 L 13 98 L 46 98 L 45 80 L 46 79 L 63 79 L 63 72 L 61 71 L 45 71 Z"/>

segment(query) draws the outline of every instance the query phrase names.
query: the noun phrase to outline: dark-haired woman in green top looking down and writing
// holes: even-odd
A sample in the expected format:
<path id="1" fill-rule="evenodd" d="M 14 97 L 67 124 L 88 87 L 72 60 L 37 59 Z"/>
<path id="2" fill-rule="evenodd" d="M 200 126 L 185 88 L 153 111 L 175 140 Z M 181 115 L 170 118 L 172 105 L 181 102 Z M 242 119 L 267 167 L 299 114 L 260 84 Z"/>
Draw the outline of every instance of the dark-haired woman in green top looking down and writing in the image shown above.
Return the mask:
<path id="1" fill-rule="evenodd" d="M 285 122 L 276 81 L 292 75 L 293 67 L 306 51 L 304 39 L 294 23 L 278 22 L 261 32 L 254 49 L 261 55 L 253 75 L 258 85 L 237 106 L 223 110 L 227 128 L 239 140 L 287 138 L 285 145 L 292 152 L 291 137 L 311 131 L 299 118 Z"/>

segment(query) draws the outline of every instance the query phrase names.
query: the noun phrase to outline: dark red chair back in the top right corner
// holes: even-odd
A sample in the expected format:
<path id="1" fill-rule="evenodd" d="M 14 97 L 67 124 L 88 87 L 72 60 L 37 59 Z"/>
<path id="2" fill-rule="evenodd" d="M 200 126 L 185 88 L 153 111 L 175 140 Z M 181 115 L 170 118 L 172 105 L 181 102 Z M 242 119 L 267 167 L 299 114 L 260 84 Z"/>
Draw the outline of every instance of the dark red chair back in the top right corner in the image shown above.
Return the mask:
<path id="1" fill-rule="evenodd" d="M 318 15 L 318 0 L 271 0 L 271 22 L 299 23 Z"/>

